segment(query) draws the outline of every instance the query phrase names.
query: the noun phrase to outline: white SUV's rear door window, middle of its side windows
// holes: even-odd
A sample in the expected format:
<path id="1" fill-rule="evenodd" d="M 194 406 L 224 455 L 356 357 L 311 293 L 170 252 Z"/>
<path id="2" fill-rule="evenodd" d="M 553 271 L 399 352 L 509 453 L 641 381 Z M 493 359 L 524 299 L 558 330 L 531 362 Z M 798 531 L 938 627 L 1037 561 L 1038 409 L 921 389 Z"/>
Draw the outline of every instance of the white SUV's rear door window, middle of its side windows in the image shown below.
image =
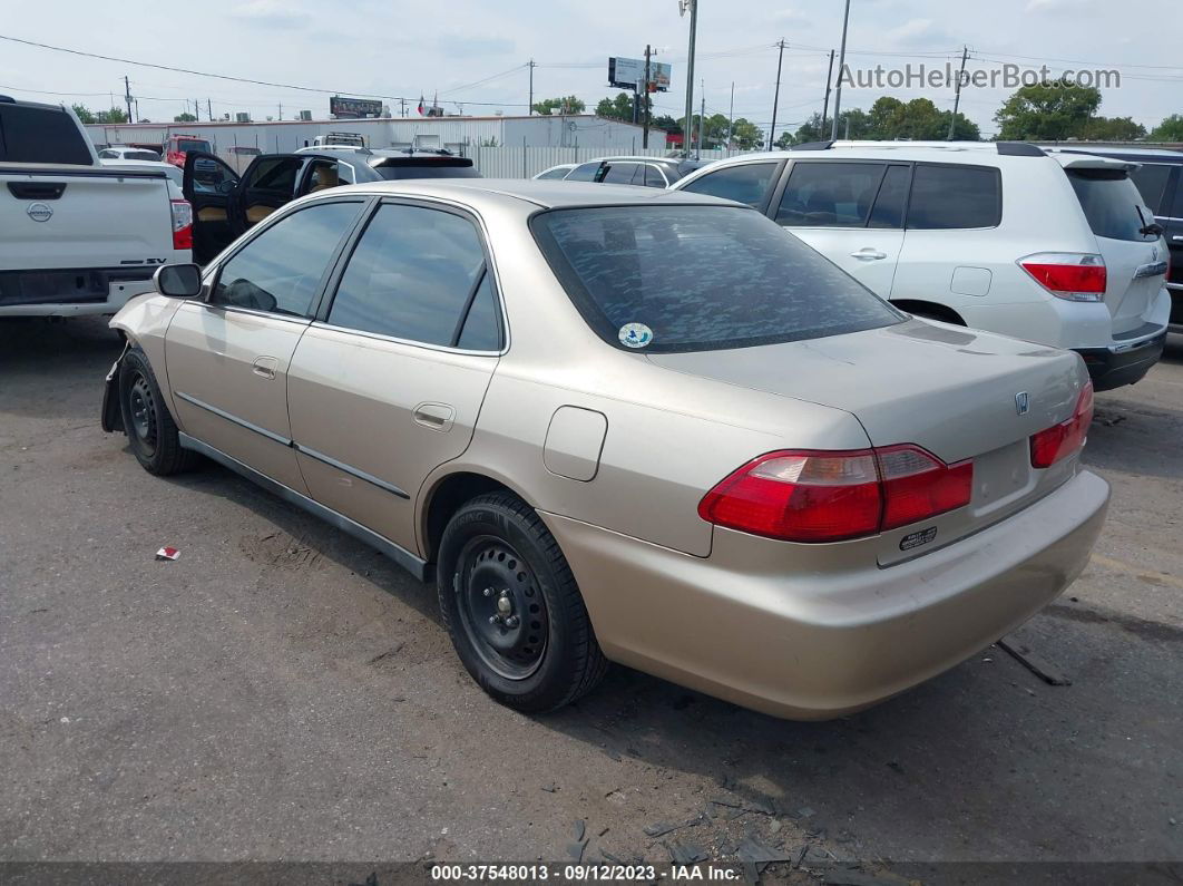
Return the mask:
<path id="1" fill-rule="evenodd" d="M 866 227 L 886 163 L 796 161 L 776 221 L 789 227 Z"/>

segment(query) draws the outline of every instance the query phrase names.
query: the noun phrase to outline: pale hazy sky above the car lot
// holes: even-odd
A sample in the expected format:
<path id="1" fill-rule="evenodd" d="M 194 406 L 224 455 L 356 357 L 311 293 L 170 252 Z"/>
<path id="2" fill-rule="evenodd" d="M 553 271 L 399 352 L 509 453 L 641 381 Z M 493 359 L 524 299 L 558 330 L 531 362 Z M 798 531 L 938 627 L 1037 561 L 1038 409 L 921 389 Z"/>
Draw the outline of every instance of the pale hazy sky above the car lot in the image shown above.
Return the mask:
<path id="1" fill-rule="evenodd" d="M 777 128 L 795 130 L 821 111 L 829 50 L 841 39 L 841 0 L 698 0 L 694 106 L 735 116 L 767 134 L 772 119 L 778 40 L 787 48 Z M 1119 88 L 1103 89 L 1100 114 L 1153 128 L 1183 111 L 1183 32 L 1178 2 L 1112 0 L 851 0 L 847 63 L 853 69 L 911 64 L 970 71 L 1003 63 L 1037 67 L 1116 69 Z M 192 34 L 192 37 L 190 37 Z M 280 85 L 108 62 L 0 40 L 0 93 L 91 109 L 122 106 L 123 77 L 141 117 L 172 121 L 207 101 L 215 117 L 328 116 L 328 97 L 439 95 L 448 112 L 525 114 L 534 59 L 535 101 L 576 95 L 592 109 L 607 95 L 609 56 L 640 57 L 645 44 L 672 64 L 671 91 L 657 114 L 680 117 L 686 101 L 689 17 L 678 0 L 202 0 L 200 4 L 95 4 L 0 0 L 0 35 Z M 306 86 L 312 91 L 292 89 Z M 984 136 L 1011 89 L 967 88 L 962 111 Z M 868 108 L 880 95 L 926 96 L 952 108 L 953 89 L 843 90 L 842 106 Z M 395 115 L 397 101 L 384 99 Z M 280 110 L 282 105 L 282 110 Z M 833 103 L 830 104 L 833 109 Z"/>

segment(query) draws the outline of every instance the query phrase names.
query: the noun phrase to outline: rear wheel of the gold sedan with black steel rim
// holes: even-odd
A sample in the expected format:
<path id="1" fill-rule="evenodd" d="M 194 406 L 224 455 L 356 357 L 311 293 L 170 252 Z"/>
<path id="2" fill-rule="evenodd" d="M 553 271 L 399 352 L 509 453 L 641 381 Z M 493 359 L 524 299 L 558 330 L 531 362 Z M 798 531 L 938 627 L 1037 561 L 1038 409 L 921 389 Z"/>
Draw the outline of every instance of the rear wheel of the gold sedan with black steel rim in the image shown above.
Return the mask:
<path id="1" fill-rule="evenodd" d="M 503 705 L 554 711 L 607 672 L 558 543 L 516 496 L 478 496 L 455 512 L 440 541 L 435 584 L 461 664 Z"/>

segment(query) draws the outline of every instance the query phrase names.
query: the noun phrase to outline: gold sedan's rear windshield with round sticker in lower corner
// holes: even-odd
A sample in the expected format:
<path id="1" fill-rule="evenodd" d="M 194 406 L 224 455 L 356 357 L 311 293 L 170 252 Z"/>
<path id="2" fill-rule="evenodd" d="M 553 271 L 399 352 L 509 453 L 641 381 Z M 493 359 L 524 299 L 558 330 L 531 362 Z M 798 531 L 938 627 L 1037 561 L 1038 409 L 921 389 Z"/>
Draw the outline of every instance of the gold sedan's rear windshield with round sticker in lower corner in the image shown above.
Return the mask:
<path id="1" fill-rule="evenodd" d="M 621 348 L 746 348 L 904 318 L 752 209 L 556 209 L 535 215 L 531 228 L 583 319 Z"/>

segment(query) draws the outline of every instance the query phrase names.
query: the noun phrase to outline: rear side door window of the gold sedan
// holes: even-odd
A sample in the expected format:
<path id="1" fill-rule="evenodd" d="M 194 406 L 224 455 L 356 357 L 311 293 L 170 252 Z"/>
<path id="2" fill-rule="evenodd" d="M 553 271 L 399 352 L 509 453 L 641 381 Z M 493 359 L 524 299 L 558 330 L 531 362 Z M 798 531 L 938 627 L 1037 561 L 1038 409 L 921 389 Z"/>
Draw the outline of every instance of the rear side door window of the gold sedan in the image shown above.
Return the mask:
<path id="1" fill-rule="evenodd" d="M 496 350 L 486 270 L 480 234 L 467 218 L 387 203 L 357 241 L 328 322 L 409 342 Z"/>

